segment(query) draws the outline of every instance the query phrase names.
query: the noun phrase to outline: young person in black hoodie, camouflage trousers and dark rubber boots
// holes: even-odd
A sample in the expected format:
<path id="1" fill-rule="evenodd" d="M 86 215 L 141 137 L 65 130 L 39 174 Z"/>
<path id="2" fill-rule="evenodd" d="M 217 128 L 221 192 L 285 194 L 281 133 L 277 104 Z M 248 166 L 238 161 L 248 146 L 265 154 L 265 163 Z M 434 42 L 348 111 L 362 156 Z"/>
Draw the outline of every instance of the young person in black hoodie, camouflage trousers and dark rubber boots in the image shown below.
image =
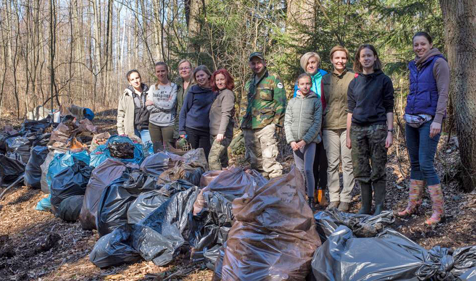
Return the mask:
<path id="1" fill-rule="evenodd" d="M 354 61 L 358 76 L 347 91 L 346 145 L 352 148 L 354 176 L 361 189 L 358 213 L 370 214 L 373 185 L 374 216 L 384 208 L 387 149 L 393 142 L 393 85 L 381 65 L 375 47 L 361 45 Z"/>

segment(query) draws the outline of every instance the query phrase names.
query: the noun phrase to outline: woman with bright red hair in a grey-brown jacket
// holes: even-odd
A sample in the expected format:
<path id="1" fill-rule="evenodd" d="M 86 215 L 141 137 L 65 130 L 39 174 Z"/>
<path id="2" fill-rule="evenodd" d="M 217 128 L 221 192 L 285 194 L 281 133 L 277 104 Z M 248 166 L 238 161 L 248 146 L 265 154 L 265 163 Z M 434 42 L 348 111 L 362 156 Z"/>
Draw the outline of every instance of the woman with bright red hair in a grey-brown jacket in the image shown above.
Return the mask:
<path id="1" fill-rule="evenodd" d="M 210 170 L 228 167 L 228 146 L 233 139 L 235 121 L 235 81 L 226 69 L 215 71 L 211 77 L 212 90 L 217 98 L 210 109 Z"/>

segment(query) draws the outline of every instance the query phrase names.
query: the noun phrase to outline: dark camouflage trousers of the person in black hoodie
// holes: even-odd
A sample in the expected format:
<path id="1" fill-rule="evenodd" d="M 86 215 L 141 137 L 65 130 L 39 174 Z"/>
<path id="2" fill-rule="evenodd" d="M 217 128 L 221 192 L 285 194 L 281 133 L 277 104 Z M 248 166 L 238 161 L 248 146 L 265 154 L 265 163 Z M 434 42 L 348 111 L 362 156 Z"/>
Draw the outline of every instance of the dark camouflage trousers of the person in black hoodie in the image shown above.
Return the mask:
<path id="1" fill-rule="evenodd" d="M 387 125 L 351 126 L 352 167 L 359 183 L 385 181 L 386 138 Z"/>

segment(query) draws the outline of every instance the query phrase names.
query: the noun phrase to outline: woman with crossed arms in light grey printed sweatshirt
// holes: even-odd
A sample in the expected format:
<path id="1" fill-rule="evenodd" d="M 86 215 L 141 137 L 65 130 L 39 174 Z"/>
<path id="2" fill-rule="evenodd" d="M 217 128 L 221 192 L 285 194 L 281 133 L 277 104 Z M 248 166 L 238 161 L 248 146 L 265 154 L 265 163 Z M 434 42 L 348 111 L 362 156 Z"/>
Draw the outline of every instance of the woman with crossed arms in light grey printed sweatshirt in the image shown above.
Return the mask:
<path id="1" fill-rule="evenodd" d="M 173 128 L 176 118 L 177 85 L 169 80 L 169 67 L 165 62 L 155 63 L 158 82 L 152 85 L 147 95 L 146 106 L 150 111 L 149 131 L 153 150 L 173 147 Z"/>

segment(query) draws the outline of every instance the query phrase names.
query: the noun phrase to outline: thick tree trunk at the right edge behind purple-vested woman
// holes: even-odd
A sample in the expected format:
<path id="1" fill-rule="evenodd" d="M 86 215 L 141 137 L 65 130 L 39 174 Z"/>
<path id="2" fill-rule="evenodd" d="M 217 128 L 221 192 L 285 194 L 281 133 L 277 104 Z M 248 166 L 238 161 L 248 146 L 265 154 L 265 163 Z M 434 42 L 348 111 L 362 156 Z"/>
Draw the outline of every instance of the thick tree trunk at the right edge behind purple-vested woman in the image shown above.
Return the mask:
<path id="1" fill-rule="evenodd" d="M 440 0 L 463 189 L 476 186 L 476 0 Z"/>

